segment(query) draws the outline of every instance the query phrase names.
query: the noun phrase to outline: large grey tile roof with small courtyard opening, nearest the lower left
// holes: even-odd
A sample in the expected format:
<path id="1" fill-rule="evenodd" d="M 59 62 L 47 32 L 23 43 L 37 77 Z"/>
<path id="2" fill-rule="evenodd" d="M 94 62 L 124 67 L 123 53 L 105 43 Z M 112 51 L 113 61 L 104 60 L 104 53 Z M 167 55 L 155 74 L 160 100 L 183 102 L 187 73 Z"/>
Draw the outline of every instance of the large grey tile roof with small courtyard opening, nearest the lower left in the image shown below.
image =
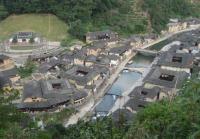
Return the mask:
<path id="1" fill-rule="evenodd" d="M 53 84 L 61 84 L 61 88 L 53 88 Z M 39 82 L 32 81 L 24 85 L 23 100 L 26 98 L 39 97 L 45 99 L 47 102 L 32 102 L 24 103 L 28 105 L 38 105 L 38 104 L 59 104 L 71 99 L 73 90 L 71 89 L 67 80 L 41 80 Z M 38 104 L 34 104 L 38 103 Z"/>

